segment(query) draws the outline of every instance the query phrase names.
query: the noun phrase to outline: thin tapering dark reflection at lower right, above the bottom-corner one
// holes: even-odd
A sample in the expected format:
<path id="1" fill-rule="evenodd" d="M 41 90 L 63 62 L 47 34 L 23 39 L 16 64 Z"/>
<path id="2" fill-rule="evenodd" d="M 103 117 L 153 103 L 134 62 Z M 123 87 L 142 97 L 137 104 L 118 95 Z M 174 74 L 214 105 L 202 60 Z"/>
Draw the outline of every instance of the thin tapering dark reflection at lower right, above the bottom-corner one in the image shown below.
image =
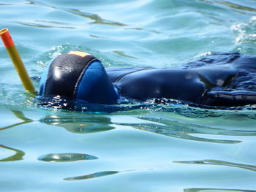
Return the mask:
<path id="1" fill-rule="evenodd" d="M 248 169 L 251 171 L 256 171 L 256 166 L 254 165 L 246 165 L 246 164 L 236 164 L 228 161 L 219 161 L 219 160 L 197 160 L 197 161 L 173 161 L 173 163 L 179 164 L 207 164 L 207 165 L 219 165 L 219 166 L 233 166 L 241 169 Z"/>

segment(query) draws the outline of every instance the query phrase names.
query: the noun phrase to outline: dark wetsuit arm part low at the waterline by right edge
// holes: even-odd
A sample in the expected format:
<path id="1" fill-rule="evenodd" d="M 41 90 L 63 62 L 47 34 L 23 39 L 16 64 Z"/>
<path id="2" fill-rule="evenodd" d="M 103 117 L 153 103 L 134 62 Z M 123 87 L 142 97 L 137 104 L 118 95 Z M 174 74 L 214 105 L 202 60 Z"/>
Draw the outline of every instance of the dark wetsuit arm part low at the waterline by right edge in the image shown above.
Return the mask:
<path id="1" fill-rule="evenodd" d="M 202 104 L 217 107 L 238 107 L 256 103 L 254 91 L 208 91 Z"/>

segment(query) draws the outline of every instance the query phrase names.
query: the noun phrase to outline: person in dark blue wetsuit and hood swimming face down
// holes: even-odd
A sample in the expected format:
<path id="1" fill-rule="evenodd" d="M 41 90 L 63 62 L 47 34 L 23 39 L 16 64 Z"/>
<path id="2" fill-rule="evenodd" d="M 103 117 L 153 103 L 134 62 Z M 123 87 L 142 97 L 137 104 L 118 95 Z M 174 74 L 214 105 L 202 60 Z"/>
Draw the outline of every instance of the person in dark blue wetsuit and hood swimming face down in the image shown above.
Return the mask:
<path id="1" fill-rule="evenodd" d="M 256 56 L 216 53 L 181 69 L 113 67 L 105 69 L 89 53 L 59 55 L 45 69 L 39 84 L 42 98 L 89 104 L 122 104 L 155 99 L 187 104 L 238 107 L 256 104 Z M 163 99 L 163 100 L 162 100 Z"/>

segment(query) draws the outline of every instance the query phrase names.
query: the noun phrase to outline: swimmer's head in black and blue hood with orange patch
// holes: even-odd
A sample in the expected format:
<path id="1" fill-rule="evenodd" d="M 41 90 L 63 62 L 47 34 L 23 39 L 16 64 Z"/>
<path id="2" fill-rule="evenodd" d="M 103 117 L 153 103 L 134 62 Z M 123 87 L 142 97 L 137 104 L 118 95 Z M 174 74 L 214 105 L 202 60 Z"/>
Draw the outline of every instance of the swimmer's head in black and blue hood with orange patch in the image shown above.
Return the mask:
<path id="1" fill-rule="evenodd" d="M 118 99 L 101 62 L 81 51 L 70 51 L 53 60 L 42 74 L 39 96 L 96 104 L 116 104 Z"/>

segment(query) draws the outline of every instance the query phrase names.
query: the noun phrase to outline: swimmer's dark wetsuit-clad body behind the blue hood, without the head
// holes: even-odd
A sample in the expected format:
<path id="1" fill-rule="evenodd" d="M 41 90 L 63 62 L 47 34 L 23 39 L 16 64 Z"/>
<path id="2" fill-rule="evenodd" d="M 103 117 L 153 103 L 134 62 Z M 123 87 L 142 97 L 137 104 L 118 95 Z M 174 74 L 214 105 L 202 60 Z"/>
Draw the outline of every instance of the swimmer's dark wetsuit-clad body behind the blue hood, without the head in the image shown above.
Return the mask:
<path id="1" fill-rule="evenodd" d="M 239 86 L 244 86 L 242 94 L 247 96 L 249 90 L 246 88 L 256 84 L 256 80 L 252 80 L 256 72 L 255 62 L 255 56 L 219 53 L 193 61 L 187 69 L 119 67 L 107 69 L 107 72 L 118 92 L 127 98 L 141 101 L 166 98 L 218 106 L 223 102 L 234 103 L 241 92 L 232 91 Z M 246 75 L 249 75 L 248 81 L 244 81 Z M 214 102 L 208 99 L 213 96 Z M 227 99 L 223 100 L 222 96 Z M 254 99 L 247 103 L 252 102 Z M 238 101 L 235 105 L 240 103 Z"/>

